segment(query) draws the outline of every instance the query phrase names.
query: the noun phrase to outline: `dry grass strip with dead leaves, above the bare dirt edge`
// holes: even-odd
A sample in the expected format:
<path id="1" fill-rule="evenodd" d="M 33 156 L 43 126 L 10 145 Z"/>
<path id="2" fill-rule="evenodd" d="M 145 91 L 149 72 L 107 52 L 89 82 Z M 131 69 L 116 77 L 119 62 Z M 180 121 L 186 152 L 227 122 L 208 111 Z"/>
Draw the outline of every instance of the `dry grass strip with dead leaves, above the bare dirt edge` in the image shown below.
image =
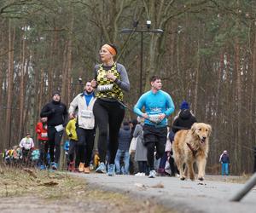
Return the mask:
<path id="1" fill-rule="evenodd" d="M 33 197 L 47 204 L 66 205 L 70 211 L 83 203 L 92 206 L 93 212 L 175 212 L 155 204 L 154 200 L 135 200 L 122 193 L 93 189 L 82 177 L 48 170 L 0 168 L 0 199 L 6 197 L 14 200 Z"/>

